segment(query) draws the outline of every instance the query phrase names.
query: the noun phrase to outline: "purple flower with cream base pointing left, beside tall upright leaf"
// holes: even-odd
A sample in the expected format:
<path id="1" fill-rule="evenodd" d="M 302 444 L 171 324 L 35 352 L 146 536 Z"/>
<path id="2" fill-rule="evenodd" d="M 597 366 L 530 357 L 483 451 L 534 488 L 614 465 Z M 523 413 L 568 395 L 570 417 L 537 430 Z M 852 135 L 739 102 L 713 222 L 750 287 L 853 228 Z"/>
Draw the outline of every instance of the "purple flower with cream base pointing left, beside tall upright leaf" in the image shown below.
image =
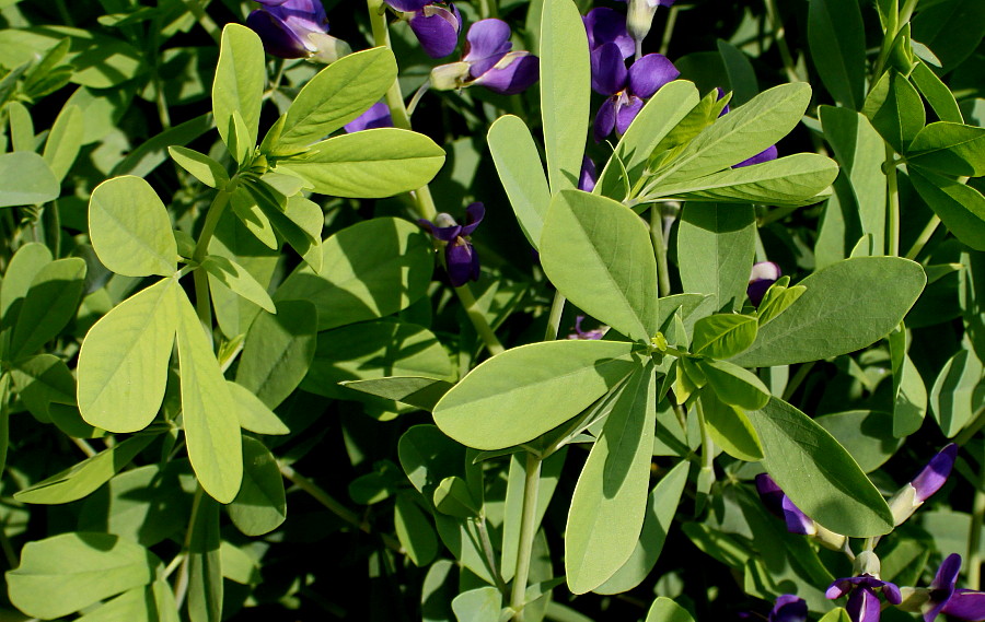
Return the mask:
<path id="1" fill-rule="evenodd" d="M 524 91 L 540 77 L 540 59 L 529 51 L 512 51 L 510 26 L 502 20 L 479 20 L 465 35 L 459 62 L 431 70 L 431 87 L 451 91 L 478 84 L 501 95 Z"/>

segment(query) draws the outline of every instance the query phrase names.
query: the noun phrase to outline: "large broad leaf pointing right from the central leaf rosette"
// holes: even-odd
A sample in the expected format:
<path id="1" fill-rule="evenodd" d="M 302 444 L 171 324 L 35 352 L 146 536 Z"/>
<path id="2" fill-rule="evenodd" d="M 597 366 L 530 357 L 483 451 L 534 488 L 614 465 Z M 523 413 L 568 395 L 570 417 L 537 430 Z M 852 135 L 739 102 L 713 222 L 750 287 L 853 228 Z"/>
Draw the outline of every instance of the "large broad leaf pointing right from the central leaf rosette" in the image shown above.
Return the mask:
<path id="1" fill-rule="evenodd" d="M 924 289 L 923 268 L 899 257 L 857 257 L 800 282 L 807 291 L 760 327 L 743 367 L 818 361 L 861 350 L 893 330 Z"/>

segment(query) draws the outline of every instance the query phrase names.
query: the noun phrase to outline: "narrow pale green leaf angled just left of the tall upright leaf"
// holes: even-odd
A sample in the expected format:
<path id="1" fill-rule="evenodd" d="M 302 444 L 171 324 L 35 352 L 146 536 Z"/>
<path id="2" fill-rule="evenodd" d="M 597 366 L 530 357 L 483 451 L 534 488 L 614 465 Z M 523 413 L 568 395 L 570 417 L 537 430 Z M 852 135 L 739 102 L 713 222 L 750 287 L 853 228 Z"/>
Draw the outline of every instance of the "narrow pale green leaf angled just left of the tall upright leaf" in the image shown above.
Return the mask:
<path id="1" fill-rule="evenodd" d="M 519 117 L 503 115 L 489 127 L 487 141 L 520 228 L 536 249 L 551 203 L 551 190 L 530 129 Z"/>

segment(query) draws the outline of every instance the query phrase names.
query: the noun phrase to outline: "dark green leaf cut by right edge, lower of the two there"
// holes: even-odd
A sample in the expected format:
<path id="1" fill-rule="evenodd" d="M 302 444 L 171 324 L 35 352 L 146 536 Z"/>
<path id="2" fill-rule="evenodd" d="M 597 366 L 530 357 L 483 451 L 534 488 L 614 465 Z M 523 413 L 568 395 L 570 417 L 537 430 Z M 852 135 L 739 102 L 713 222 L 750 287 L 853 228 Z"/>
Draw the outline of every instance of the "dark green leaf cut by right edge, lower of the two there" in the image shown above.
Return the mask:
<path id="1" fill-rule="evenodd" d="M 923 168 L 911 168 L 909 180 L 954 237 L 975 250 L 985 250 L 985 197 L 982 192 Z"/>

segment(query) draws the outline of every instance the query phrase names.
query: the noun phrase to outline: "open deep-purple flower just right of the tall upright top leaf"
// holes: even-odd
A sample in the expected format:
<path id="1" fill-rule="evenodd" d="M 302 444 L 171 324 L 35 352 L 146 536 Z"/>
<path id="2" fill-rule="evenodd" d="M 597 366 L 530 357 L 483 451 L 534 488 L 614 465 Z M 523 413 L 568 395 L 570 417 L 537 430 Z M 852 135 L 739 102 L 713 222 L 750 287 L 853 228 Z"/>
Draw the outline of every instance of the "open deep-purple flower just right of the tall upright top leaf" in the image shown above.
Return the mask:
<path id="1" fill-rule="evenodd" d="M 644 102 L 681 72 L 660 54 L 648 54 L 627 70 L 623 52 L 615 43 L 592 51 L 592 89 L 609 97 L 595 114 L 593 133 L 601 142 L 615 129 L 621 136 L 644 107 Z"/>

